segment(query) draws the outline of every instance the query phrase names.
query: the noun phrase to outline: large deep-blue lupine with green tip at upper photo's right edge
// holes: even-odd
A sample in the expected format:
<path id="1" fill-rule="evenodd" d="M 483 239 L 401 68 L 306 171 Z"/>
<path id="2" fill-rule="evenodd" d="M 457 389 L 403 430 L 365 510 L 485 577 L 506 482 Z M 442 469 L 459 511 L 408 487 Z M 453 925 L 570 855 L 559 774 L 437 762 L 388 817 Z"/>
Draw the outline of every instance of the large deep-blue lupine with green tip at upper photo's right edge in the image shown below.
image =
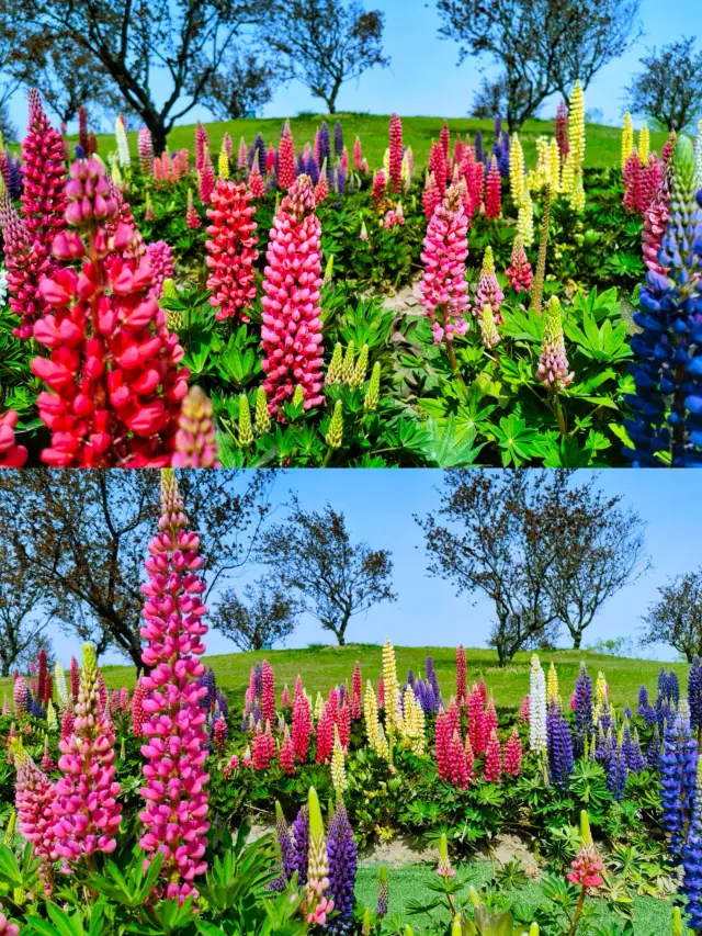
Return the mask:
<path id="1" fill-rule="evenodd" d="M 688 137 L 678 137 L 673 159 L 658 255 L 669 273 L 648 271 L 634 314 L 642 331 L 630 342 L 636 395 L 627 397 L 635 415 L 625 426 L 634 448 L 624 454 L 636 466 L 702 464 L 702 192 Z"/>

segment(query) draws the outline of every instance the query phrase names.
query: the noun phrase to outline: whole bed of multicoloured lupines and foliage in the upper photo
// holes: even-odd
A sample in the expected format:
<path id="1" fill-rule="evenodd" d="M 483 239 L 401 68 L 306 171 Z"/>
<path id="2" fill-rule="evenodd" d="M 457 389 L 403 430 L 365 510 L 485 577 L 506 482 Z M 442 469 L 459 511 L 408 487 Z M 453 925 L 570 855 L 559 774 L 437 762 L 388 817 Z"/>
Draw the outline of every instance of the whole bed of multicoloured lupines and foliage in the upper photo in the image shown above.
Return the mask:
<path id="1" fill-rule="evenodd" d="M 70 154 L 32 92 L 3 462 L 695 464 L 702 147 L 627 117 L 588 165 L 579 83 L 533 156 L 433 132 L 420 162 L 393 115 L 380 166 L 342 121 L 163 154 L 143 127 L 137 159 L 118 119 Z"/>

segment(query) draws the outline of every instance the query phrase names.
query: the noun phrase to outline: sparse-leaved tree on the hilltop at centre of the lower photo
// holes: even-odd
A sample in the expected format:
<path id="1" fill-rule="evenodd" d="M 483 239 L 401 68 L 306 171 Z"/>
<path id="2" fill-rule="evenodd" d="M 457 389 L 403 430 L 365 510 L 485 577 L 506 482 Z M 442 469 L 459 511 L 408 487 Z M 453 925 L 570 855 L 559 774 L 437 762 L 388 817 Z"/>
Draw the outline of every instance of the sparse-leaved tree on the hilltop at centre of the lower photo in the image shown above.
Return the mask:
<path id="1" fill-rule="evenodd" d="M 322 512 L 304 510 L 293 497 L 287 520 L 263 534 L 259 559 L 285 588 L 299 591 L 306 610 L 339 646 L 354 614 L 397 598 L 390 553 L 353 543 L 343 514 L 330 505 Z"/>

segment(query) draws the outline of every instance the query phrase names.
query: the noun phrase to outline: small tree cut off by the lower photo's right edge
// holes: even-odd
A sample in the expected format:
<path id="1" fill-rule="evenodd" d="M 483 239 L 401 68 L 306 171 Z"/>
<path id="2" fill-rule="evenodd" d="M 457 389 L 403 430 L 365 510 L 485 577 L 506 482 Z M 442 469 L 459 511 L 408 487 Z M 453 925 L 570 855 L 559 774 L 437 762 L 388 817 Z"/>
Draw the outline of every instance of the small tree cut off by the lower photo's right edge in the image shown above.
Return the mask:
<path id="1" fill-rule="evenodd" d="M 695 654 L 702 656 L 702 567 L 671 578 L 658 594 L 644 618 L 641 642 L 667 643 L 692 663 Z"/>

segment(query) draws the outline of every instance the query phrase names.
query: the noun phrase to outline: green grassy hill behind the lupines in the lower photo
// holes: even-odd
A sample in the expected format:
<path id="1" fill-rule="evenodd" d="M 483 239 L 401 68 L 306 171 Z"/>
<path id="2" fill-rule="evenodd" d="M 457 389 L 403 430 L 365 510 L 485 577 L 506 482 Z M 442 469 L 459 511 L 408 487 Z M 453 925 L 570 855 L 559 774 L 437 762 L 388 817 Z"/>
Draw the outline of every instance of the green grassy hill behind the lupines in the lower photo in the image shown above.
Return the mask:
<path id="1" fill-rule="evenodd" d="M 395 647 L 397 672 L 401 680 L 411 668 L 415 674 L 422 673 L 424 659 L 431 655 L 439 677 L 442 693 L 449 698 L 455 686 L 455 650 L 445 646 Z M 287 683 L 291 690 L 297 674 L 301 674 L 306 688 L 326 695 L 327 690 L 339 683 L 351 683 L 354 662 L 361 664 L 363 681 L 374 683 L 381 675 L 381 647 L 373 644 L 338 646 L 313 646 L 306 650 L 272 650 L 260 653 L 231 653 L 222 656 L 206 656 L 205 662 L 214 667 L 217 683 L 230 695 L 237 706 L 244 704 L 244 692 L 249 681 L 251 666 L 265 657 L 275 668 L 275 685 L 280 691 Z M 595 680 L 598 670 L 602 670 L 610 686 L 610 698 L 615 706 L 626 702 L 635 709 L 638 687 L 646 683 L 649 693 L 655 696 L 656 678 L 660 664 L 645 659 L 630 659 L 623 656 L 605 656 L 589 651 L 561 650 L 555 653 L 540 654 L 542 666 L 546 669 L 553 661 L 561 681 L 562 691 L 570 692 L 580 661 L 582 659 Z M 529 653 L 520 653 L 512 665 L 500 669 L 497 655 L 491 650 L 468 650 L 468 685 L 485 676 L 488 688 L 495 693 L 498 706 L 518 707 L 529 691 Z M 682 663 L 666 664 L 675 669 L 684 691 L 688 667 Z M 136 674 L 132 666 L 106 666 L 103 668 L 106 685 L 110 688 L 127 686 L 132 688 Z M 11 680 L 0 680 L 0 693 L 11 692 Z"/>

